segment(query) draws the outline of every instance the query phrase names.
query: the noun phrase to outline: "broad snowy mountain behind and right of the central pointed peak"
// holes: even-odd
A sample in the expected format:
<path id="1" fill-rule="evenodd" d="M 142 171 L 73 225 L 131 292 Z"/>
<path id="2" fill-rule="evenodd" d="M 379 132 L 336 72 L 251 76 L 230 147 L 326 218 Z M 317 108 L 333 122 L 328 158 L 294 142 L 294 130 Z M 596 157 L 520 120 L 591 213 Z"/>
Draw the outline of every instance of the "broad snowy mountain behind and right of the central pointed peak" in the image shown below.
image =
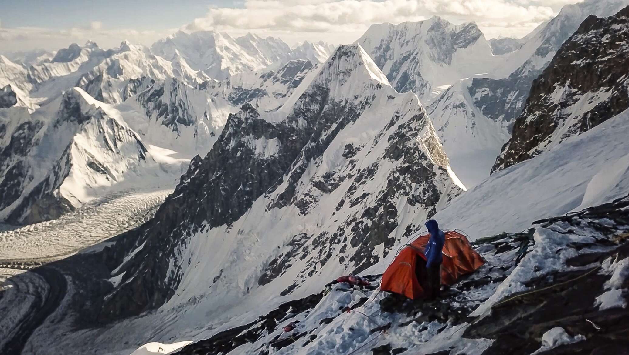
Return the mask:
<path id="1" fill-rule="evenodd" d="M 497 63 L 475 23 L 455 26 L 437 16 L 372 25 L 357 43 L 398 92 L 415 92 L 423 104 L 462 78 L 493 72 Z"/>

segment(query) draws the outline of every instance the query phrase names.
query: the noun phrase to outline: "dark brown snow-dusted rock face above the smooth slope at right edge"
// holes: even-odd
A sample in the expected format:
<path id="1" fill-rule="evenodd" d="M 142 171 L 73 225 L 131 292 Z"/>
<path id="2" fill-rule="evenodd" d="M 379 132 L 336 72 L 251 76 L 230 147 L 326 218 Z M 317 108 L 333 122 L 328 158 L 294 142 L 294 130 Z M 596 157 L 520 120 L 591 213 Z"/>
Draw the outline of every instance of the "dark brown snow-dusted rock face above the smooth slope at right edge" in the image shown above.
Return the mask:
<path id="1" fill-rule="evenodd" d="M 533 158 L 629 108 L 629 8 L 590 16 L 533 82 L 492 172 Z"/>

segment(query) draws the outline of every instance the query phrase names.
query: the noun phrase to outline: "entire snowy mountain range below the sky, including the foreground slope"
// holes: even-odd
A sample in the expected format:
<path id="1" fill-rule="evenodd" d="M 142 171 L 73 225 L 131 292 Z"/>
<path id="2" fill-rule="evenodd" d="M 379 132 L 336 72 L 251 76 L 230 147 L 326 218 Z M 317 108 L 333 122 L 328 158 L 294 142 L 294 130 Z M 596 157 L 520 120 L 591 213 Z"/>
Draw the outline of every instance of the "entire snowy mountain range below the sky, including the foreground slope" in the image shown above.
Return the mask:
<path id="1" fill-rule="evenodd" d="M 0 221 L 171 191 L 9 278 L 0 352 L 619 353 L 628 36 L 629 0 L 586 0 L 519 39 L 433 17 L 336 47 L 179 31 L 0 56 Z M 427 219 L 486 264 L 440 302 L 380 292 Z"/>

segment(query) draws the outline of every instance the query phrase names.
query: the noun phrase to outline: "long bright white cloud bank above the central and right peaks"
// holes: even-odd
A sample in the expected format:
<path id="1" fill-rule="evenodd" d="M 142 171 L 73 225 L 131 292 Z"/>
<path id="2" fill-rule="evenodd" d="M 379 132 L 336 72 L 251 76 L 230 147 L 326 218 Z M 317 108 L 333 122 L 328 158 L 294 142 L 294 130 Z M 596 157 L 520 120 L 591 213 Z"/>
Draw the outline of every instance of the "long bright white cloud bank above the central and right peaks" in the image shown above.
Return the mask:
<path id="1" fill-rule="evenodd" d="M 579 0 L 550 0 L 559 6 Z M 442 16 L 476 21 L 494 35 L 526 35 L 552 18 L 547 0 L 247 0 L 243 8 L 209 8 L 184 30 L 347 33 L 372 23 L 420 21 Z"/>

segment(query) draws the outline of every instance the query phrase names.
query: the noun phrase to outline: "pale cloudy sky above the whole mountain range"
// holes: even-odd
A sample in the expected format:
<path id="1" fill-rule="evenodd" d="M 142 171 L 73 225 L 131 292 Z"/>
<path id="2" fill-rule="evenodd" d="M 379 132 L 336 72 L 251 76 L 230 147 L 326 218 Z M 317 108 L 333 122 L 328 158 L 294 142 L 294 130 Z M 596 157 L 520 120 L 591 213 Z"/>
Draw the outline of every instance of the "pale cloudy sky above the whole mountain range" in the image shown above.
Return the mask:
<path id="1" fill-rule="evenodd" d="M 581 0 L 0 0 L 0 53 L 94 40 L 150 45 L 175 31 L 252 32 L 290 45 L 351 43 L 373 23 L 441 16 L 476 21 L 487 38 L 527 35 Z"/>

